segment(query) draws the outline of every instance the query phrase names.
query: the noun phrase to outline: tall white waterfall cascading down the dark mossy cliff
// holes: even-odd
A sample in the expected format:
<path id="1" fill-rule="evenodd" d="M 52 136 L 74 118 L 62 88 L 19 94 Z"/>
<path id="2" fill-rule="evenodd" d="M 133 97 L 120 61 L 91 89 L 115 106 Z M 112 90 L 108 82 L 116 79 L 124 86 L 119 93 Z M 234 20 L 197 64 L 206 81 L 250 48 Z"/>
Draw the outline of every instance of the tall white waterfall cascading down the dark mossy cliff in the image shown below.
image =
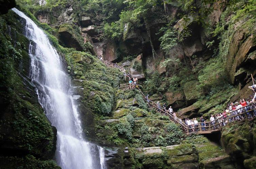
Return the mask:
<path id="1" fill-rule="evenodd" d="M 38 100 L 51 124 L 57 128 L 55 157 L 64 169 L 104 168 L 103 148 L 84 140 L 76 97 L 70 78 L 63 69 L 61 57 L 47 35 L 27 16 L 23 18 L 24 35 L 30 40 L 30 78 L 36 86 Z"/>

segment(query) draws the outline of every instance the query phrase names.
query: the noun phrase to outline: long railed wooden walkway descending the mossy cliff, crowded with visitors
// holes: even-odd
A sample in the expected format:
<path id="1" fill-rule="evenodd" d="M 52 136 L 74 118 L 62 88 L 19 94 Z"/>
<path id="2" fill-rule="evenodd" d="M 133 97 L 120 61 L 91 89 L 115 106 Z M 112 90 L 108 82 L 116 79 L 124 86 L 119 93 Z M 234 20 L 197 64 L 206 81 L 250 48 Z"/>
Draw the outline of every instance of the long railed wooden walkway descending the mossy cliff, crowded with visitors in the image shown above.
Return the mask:
<path id="1" fill-rule="evenodd" d="M 95 51 L 95 55 L 100 59 L 102 63 L 104 63 L 107 67 L 111 68 L 117 68 L 121 72 L 124 73 L 125 77 L 128 75 L 130 78 L 133 78 L 132 75 L 123 68 L 123 66 L 118 66 L 117 64 L 114 64 L 109 61 L 103 60 L 100 56 L 97 54 L 97 49 L 95 48 L 90 36 L 87 33 L 82 34 L 83 37 L 86 37 L 86 39 L 92 44 L 93 50 Z M 247 105 L 245 107 L 242 107 L 240 109 L 230 111 L 226 114 L 226 117 L 221 117 L 219 119 L 215 119 L 214 121 L 208 121 L 194 125 L 187 125 L 182 119 L 177 118 L 172 113 L 170 113 L 168 110 L 165 110 L 160 105 L 157 105 L 157 103 L 153 102 L 152 100 L 148 99 L 143 92 L 139 89 L 138 86 L 131 87 L 129 83 L 126 84 L 120 84 L 120 89 L 122 90 L 134 90 L 138 89 L 141 93 L 143 100 L 150 106 L 155 108 L 158 112 L 160 112 L 163 115 L 166 115 L 169 117 L 169 119 L 177 124 L 180 124 L 182 127 L 182 130 L 187 134 L 190 135 L 192 133 L 195 134 L 211 134 L 215 132 L 219 132 L 222 127 L 229 126 L 229 124 L 233 122 L 244 122 L 246 120 L 251 121 L 256 117 L 256 104 L 252 103 L 250 105 Z"/>

